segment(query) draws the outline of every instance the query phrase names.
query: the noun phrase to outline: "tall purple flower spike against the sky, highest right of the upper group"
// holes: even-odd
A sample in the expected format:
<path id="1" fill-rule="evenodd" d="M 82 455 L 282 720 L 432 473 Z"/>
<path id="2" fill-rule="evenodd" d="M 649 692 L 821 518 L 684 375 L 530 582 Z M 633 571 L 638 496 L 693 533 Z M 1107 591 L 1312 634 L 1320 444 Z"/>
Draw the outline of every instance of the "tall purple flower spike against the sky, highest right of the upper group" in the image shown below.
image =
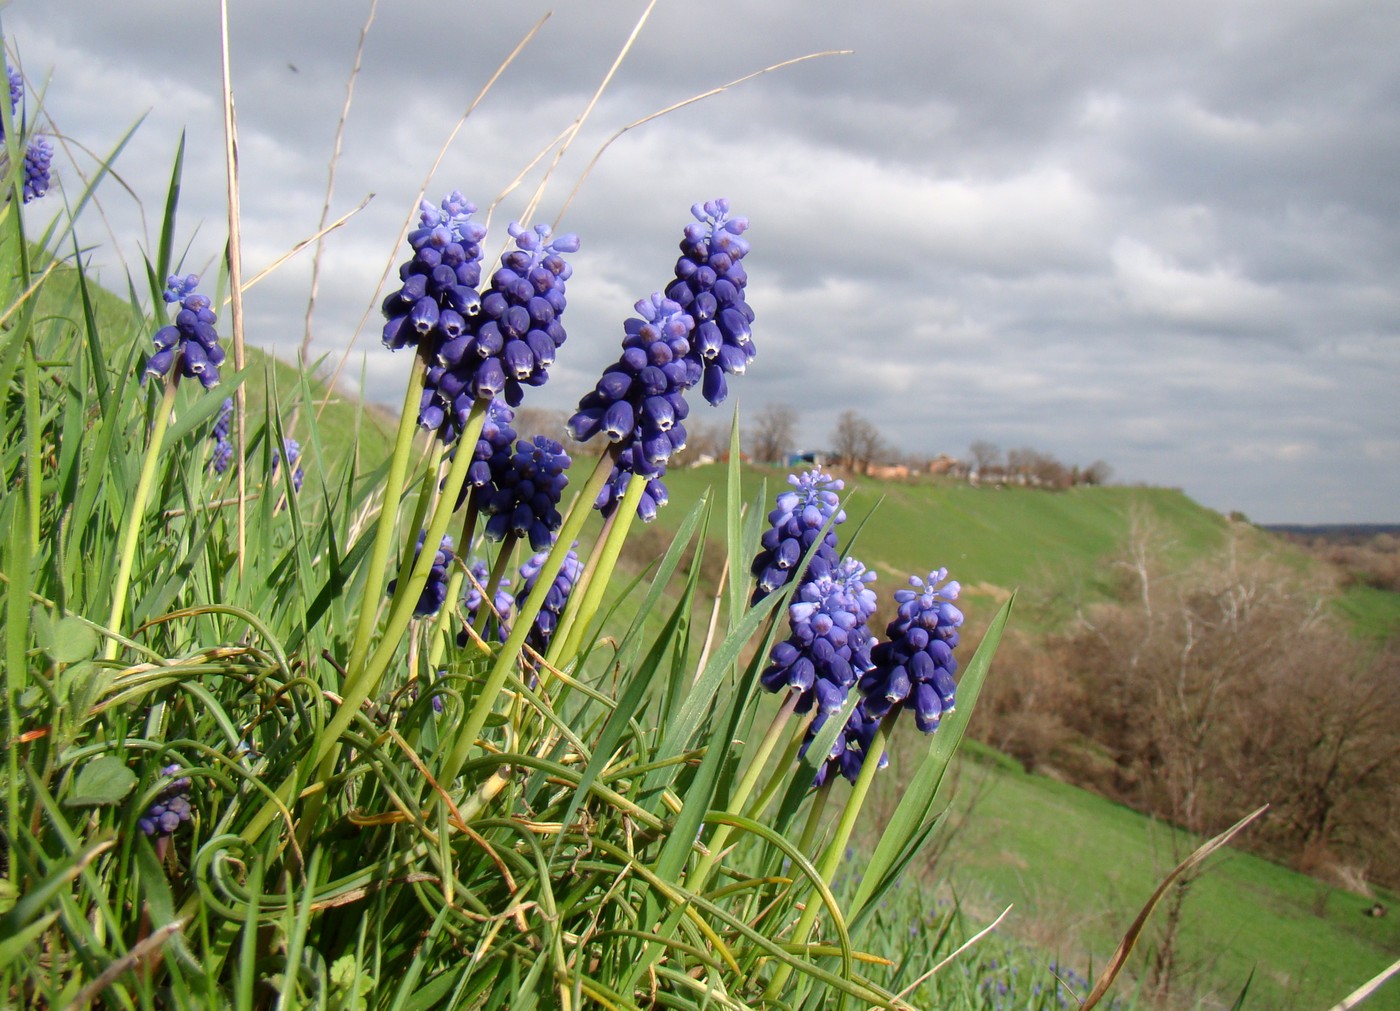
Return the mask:
<path id="1" fill-rule="evenodd" d="M 731 216 L 724 197 L 697 203 L 690 213 L 696 223 L 686 227 L 666 298 L 694 318 L 687 357 L 703 370 L 701 393 L 714 406 L 728 395 L 724 377 L 742 375 L 755 354 L 753 309 L 743 300 L 749 277 L 739 263 L 749 252 L 741 238 L 749 220 Z"/>

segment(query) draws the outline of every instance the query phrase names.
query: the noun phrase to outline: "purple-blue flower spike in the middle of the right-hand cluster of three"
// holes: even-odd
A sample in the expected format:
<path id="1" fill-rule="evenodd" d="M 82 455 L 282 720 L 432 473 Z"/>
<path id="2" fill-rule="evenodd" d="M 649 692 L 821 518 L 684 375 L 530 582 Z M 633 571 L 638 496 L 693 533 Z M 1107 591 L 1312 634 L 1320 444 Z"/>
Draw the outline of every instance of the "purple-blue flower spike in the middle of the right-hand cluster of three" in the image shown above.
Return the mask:
<path id="1" fill-rule="evenodd" d="M 857 679 L 874 667 L 868 622 L 875 592 L 865 585 L 874 578 L 864 564 L 846 559 L 802 583 L 788 606 L 792 634 L 773 647 L 771 662 L 759 675 L 763 688 L 799 692 L 797 713 L 813 704 L 827 716 L 839 713 Z"/>

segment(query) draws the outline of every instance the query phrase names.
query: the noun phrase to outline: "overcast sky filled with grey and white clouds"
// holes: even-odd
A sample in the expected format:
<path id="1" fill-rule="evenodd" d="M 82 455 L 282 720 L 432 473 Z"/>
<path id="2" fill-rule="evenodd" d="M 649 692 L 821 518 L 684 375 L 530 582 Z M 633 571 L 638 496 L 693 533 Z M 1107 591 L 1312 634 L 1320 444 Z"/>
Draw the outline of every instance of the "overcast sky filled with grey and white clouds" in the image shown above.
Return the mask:
<path id="1" fill-rule="evenodd" d="M 316 228 L 370 3 L 230 6 L 251 276 Z M 217 8 L 13 0 L 0 14 L 31 116 L 43 92 L 41 122 L 64 137 L 69 200 L 90 153 L 144 116 L 80 221 L 119 290 L 154 242 L 182 129 L 185 267 L 210 270 L 223 244 Z M 458 118 L 553 10 L 428 183 L 484 210 L 587 105 L 643 8 L 381 3 L 332 217 L 375 196 L 328 239 L 314 356 L 353 347 L 349 372 L 400 402 L 409 361 L 379 344 L 379 277 Z M 745 413 L 795 407 L 805 447 L 854 409 L 913 452 L 1029 445 L 1256 521 L 1400 521 L 1400 6 L 661 0 L 536 220 L 554 220 L 620 126 L 825 49 L 854 52 L 603 154 L 560 223 L 584 244 L 570 342 L 528 405 L 591 388 L 631 302 L 671 277 L 689 206 L 728 196 L 752 223 L 759 349 L 731 391 Z M 542 174 L 494 211 L 489 256 Z M 248 294 L 252 343 L 295 354 L 309 269 L 302 255 Z"/>

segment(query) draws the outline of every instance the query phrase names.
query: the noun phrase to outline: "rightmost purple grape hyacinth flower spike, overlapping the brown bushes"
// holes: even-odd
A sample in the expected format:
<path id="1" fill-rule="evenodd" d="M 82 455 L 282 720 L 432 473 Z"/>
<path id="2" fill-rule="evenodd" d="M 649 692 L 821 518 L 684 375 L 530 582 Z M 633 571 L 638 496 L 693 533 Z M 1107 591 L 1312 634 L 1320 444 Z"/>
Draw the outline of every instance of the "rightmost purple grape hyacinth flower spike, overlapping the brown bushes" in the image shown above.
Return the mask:
<path id="1" fill-rule="evenodd" d="M 899 613 L 885 630 L 889 641 L 871 651 L 875 668 L 860 682 L 867 711 L 882 718 L 895 706 L 911 706 L 924 734 L 938 730 L 938 720 L 958 700 L 958 627 L 962 612 L 953 605 L 960 587 L 938 569 L 928 580 L 909 578 L 913 590 L 896 590 Z"/>

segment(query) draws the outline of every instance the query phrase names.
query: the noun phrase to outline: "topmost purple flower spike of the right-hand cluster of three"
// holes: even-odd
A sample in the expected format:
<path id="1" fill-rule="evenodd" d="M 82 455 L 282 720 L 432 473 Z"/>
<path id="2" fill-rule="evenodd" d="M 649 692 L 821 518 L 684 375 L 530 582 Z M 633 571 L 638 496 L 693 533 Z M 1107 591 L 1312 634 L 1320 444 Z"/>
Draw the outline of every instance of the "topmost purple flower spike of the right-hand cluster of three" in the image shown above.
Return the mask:
<path id="1" fill-rule="evenodd" d="M 777 507 L 769 513 L 762 550 L 753 559 L 752 571 L 757 584 L 753 587 L 750 606 L 787 585 L 794 567 L 816 542 L 827 520 L 832 520 L 832 529 L 822 536 L 804 578 L 825 576 L 839 563 L 834 528 L 846 522 L 846 511 L 836 493 L 846 483 L 815 466 L 802 475 L 788 475 L 788 484 L 795 490 L 777 497 Z"/>

